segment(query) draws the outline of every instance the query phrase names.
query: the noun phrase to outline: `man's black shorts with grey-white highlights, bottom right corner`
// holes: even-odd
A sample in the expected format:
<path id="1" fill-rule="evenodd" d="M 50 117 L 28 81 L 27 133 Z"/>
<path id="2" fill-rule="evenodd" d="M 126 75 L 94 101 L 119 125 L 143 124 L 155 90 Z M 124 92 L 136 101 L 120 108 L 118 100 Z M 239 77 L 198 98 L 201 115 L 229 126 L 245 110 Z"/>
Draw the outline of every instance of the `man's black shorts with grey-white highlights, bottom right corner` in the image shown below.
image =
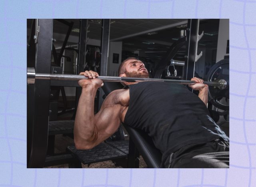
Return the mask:
<path id="1" fill-rule="evenodd" d="M 186 145 L 170 154 L 166 168 L 229 168 L 229 143 L 216 139 Z"/>

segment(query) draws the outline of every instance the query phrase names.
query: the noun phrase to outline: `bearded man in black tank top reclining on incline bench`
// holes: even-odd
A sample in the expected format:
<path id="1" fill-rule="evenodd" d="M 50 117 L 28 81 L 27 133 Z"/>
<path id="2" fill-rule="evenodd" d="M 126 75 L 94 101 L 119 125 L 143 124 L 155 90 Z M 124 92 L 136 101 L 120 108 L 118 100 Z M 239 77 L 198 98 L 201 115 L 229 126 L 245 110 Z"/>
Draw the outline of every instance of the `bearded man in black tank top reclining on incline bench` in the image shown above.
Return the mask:
<path id="1" fill-rule="evenodd" d="M 144 64 L 128 58 L 120 64 L 121 77 L 148 78 Z M 82 87 L 74 125 L 77 149 L 91 149 L 116 132 L 120 123 L 144 130 L 162 152 L 161 167 L 228 168 L 228 137 L 210 118 L 208 86 L 192 78 L 196 96 L 186 86 L 162 82 L 124 82 L 94 115 L 96 91 L 103 85 L 96 72 L 82 72 L 89 79 Z"/>

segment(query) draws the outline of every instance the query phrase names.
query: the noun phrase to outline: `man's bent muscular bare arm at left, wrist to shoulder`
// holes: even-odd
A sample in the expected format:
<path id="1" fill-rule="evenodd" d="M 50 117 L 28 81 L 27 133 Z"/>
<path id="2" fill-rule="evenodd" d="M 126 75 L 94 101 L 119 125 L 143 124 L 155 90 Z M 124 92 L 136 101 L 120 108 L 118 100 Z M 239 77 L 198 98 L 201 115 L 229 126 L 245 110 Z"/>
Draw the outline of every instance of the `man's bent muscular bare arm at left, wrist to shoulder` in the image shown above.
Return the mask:
<path id="1" fill-rule="evenodd" d="M 91 149 L 116 132 L 121 121 L 121 103 L 112 92 L 94 116 L 96 88 L 83 88 L 78 102 L 74 125 L 74 141 L 77 149 Z"/>

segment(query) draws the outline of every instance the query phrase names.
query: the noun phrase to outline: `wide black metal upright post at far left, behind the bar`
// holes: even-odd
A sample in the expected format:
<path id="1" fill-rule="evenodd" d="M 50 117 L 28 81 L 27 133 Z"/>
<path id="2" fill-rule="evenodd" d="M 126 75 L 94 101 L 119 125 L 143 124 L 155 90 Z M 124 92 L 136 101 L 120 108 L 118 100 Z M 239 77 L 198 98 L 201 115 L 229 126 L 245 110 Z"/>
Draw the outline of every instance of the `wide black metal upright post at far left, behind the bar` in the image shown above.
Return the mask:
<path id="1" fill-rule="evenodd" d="M 34 66 L 36 73 L 50 73 L 52 23 L 52 19 L 36 20 L 36 63 Z M 41 168 L 44 167 L 47 152 L 50 80 L 36 80 L 34 87 L 28 87 L 28 90 L 27 167 Z M 30 97 L 33 98 L 33 101 Z"/>

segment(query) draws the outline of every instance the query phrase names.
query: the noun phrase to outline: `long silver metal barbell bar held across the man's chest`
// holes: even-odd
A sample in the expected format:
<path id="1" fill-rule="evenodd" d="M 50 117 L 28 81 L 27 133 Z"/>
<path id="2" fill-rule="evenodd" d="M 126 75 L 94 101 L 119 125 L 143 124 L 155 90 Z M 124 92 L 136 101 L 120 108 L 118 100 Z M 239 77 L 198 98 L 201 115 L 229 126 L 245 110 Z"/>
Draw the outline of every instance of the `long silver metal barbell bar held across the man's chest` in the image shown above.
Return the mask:
<path id="1" fill-rule="evenodd" d="M 43 80 L 81 80 L 88 79 L 83 75 L 68 75 L 68 74 L 41 74 L 35 73 L 34 68 L 27 68 L 27 83 L 34 84 L 36 79 Z M 152 78 L 132 78 L 132 77 L 111 77 L 111 76 L 99 76 L 98 79 L 106 82 L 172 82 L 186 85 L 196 84 L 194 81 L 190 80 L 171 80 L 171 79 L 152 79 Z M 227 86 L 225 80 L 218 80 L 216 82 L 204 82 L 209 86 L 216 86 L 220 90 L 223 90 Z"/>

